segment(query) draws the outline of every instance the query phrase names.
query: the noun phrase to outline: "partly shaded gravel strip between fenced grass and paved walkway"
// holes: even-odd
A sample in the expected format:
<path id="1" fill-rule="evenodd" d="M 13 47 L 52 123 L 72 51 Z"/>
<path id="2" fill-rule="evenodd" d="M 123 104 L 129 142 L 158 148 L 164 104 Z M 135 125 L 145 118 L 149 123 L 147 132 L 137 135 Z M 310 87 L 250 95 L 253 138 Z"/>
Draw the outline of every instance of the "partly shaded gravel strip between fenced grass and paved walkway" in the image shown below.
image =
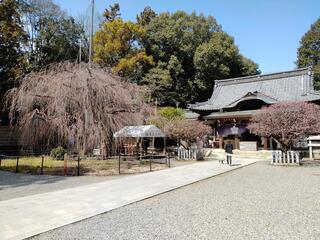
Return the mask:
<path id="1" fill-rule="evenodd" d="M 119 176 L 39 176 L 0 171 L 0 201 L 77 187 L 85 184 L 111 180 L 117 177 Z"/>

